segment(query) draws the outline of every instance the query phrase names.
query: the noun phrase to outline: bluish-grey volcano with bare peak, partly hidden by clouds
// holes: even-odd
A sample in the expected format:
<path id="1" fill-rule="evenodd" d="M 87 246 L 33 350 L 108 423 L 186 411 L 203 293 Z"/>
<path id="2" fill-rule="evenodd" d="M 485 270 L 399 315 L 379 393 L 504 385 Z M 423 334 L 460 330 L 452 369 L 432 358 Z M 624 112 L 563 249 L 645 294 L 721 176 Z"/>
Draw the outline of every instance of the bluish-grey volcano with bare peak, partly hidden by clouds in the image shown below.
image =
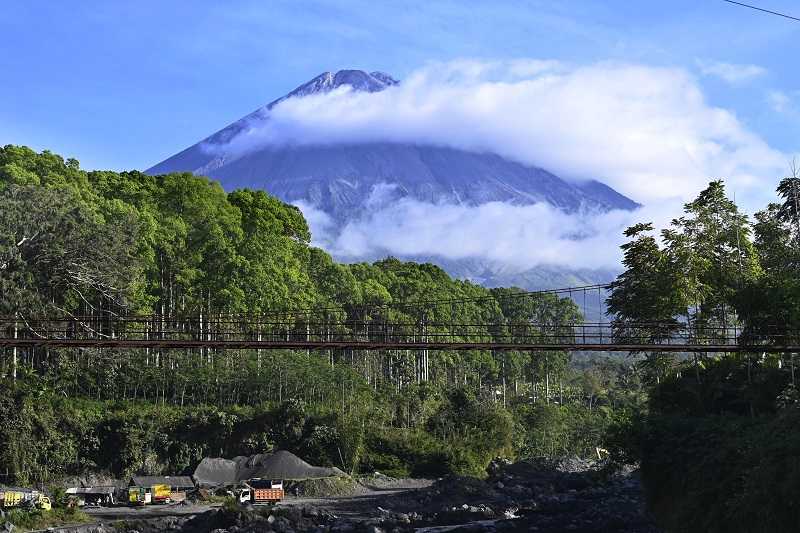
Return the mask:
<path id="1" fill-rule="evenodd" d="M 443 146 L 390 142 L 280 143 L 265 144 L 244 152 L 228 149 L 229 143 L 238 135 L 261 121 L 270 120 L 271 110 L 286 99 L 326 93 L 343 86 L 349 86 L 353 91 L 378 92 L 391 90 L 398 84 L 397 80 L 382 72 L 325 72 L 147 172 L 190 171 L 220 181 L 226 190 L 243 187 L 263 189 L 286 202 L 323 211 L 337 227 L 369 214 L 376 208 L 376 196 L 380 197 L 381 205 L 378 207 L 400 198 L 466 206 L 487 202 L 515 205 L 545 202 L 570 213 L 629 210 L 638 206 L 598 181 L 569 182 L 545 169 L 523 165 L 496 154 Z M 380 194 L 376 195 L 376 192 Z M 444 263 L 451 273 L 478 281 L 502 281 L 495 279 L 497 265 L 480 260 L 407 259 Z M 602 273 L 599 276 L 606 275 Z M 536 276 L 533 279 L 537 279 L 535 285 L 547 284 Z M 596 280 L 582 275 L 577 281 Z"/>

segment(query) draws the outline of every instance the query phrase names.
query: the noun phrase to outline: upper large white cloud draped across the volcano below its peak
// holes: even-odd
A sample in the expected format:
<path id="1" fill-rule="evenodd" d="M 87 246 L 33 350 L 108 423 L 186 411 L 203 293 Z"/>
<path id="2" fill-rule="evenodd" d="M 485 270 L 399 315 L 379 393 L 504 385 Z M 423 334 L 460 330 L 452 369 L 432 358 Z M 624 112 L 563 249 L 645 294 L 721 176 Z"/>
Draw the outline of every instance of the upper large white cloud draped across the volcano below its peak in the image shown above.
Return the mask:
<path id="1" fill-rule="evenodd" d="M 264 145 L 369 141 L 491 151 L 642 203 L 685 200 L 725 177 L 760 205 L 787 161 L 709 105 L 685 70 L 547 61 L 436 64 L 379 93 L 289 99 L 212 148 L 231 158 Z"/>

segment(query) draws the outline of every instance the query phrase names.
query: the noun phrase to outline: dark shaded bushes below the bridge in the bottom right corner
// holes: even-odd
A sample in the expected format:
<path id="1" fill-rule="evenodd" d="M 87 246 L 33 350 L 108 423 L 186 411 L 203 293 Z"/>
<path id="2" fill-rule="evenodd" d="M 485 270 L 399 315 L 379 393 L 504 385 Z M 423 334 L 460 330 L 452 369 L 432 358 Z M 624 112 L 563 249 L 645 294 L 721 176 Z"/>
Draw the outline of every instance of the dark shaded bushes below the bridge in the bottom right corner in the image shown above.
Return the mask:
<path id="1" fill-rule="evenodd" d="M 667 530 L 796 531 L 800 410 L 779 369 L 728 357 L 669 380 L 641 436 L 648 501 Z"/>

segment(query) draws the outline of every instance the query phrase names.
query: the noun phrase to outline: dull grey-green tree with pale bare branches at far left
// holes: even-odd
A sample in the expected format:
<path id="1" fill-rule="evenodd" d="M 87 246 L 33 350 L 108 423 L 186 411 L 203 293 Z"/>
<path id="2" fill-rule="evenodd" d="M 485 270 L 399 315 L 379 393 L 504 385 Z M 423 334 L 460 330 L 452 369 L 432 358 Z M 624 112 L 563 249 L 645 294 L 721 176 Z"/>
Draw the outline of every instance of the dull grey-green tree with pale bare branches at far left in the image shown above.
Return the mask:
<path id="1" fill-rule="evenodd" d="M 0 312 L 124 309 L 138 279 L 137 225 L 118 205 L 104 218 L 69 190 L 7 185 L 0 191 Z"/>

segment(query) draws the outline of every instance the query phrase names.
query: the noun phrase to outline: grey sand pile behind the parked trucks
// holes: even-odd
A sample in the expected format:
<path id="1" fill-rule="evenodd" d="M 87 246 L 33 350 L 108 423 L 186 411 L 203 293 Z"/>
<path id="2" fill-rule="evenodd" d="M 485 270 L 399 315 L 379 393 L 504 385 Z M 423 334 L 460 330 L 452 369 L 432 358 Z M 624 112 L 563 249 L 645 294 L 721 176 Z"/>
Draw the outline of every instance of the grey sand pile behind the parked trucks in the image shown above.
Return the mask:
<path id="1" fill-rule="evenodd" d="M 233 459 L 206 457 L 194 471 L 195 481 L 201 486 L 234 485 L 256 477 L 299 480 L 342 475 L 338 468 L 312 466 L 285 450 Z"/>

